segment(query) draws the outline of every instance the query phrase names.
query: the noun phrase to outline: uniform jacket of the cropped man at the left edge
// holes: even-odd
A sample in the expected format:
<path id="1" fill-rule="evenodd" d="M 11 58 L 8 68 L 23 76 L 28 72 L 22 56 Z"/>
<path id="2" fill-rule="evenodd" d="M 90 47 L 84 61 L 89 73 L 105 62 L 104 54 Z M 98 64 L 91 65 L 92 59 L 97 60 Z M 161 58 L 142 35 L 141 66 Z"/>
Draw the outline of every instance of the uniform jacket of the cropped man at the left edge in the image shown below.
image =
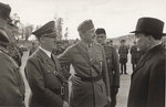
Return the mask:
<path id="1" fill-rule="evenodd" d="M 0 107 L 9 106 L 24 106 L 24 84 L 15 62 L 0 51 Z"/>

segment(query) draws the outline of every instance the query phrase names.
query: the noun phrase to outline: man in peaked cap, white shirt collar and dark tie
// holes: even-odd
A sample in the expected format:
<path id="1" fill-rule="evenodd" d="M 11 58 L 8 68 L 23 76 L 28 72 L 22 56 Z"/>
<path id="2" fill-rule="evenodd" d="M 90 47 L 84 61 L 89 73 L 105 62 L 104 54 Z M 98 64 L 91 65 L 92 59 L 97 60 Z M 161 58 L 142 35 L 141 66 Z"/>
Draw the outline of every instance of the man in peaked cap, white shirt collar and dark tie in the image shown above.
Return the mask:
<path id="1" fill-rule="evenodd" d="M 50 21 L 32 33 L 40 46 L 29 57 L 24 68 L 32 90 L 30 107 L 69 107 L 65 94 L 68 83 L 56 57 L 51 53 L 58 41 L 54 24 Z"/>

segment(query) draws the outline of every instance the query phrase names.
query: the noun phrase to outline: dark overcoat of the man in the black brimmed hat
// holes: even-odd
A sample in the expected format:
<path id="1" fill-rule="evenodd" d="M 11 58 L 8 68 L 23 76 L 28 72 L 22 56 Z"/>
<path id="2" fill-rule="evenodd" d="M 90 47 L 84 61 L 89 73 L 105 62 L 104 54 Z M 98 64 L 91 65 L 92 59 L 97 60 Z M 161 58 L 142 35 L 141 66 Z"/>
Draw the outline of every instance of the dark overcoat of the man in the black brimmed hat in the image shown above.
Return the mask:
<path id="1" fill-rule="evenodd" d="M 132 74 L 127 107 L 165 107 L 165 50 L 149 50 Z"/>

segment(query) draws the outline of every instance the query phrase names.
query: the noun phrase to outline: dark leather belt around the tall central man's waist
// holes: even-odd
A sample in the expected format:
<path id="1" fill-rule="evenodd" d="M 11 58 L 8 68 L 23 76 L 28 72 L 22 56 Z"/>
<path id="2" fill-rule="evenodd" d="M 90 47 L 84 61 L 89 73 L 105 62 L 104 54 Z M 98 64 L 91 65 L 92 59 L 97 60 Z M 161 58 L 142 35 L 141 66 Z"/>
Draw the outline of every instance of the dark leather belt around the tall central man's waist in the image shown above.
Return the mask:
<path id="1" fill-rule="evenodd" d="M 103 78 L 102 75 L 95 76 L 95 77 L 83 77 L 83 76 L 75 74 L 75 76 L 80 77 L 82 82 L 97 82 Z"/>

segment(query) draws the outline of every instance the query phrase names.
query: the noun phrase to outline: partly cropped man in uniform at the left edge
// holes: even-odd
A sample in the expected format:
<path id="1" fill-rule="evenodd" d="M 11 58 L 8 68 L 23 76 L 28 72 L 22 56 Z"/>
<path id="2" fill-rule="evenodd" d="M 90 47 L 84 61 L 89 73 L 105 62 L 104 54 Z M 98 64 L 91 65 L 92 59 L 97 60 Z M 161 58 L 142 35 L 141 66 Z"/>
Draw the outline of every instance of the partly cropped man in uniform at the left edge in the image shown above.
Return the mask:
<path id="1" fill-rule="evenodd" d="M 9 56 L 6 26 L 11 8 L 0 2 L 0 107 L 24 107 L 24 84 L 19 66 Z"/>

